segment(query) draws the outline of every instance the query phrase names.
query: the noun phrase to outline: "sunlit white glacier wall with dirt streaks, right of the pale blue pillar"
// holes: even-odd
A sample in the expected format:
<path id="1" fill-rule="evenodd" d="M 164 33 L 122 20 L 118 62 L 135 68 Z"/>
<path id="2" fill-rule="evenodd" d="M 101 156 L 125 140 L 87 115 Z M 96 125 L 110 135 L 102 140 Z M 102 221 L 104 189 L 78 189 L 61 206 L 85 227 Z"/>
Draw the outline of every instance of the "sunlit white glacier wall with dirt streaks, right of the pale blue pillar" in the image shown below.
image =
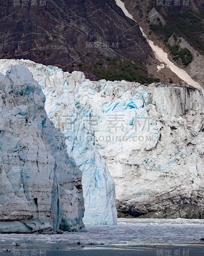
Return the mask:
<path id="1" fill-rule="evenodd" d="M 203 218 L 203 90 L 99 83 L 86 102 L 100 116 L 96 148 L 115 181 L 118 211 Z"/>

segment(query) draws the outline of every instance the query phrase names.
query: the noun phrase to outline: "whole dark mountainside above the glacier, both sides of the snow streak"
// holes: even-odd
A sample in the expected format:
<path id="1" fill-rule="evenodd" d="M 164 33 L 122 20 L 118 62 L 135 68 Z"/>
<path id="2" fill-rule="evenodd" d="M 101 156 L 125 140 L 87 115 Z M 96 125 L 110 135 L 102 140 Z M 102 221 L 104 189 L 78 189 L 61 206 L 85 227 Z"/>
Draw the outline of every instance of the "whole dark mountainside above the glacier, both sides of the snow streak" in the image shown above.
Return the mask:
<path id="1" fill-rule="evenodd" d="M 181 6 L 167 7 L 157 6 L 156 0 L 123 0 L 148 38 L 204 86 L 203 4 L 192 0 L 182 6 L 182 1 Z M 0 13 L 2 59 L 23 58 L 63 71 L 83 71 L 91 80 L 185 83 L 167 67 L 157 72 L 161 62 L 115 0 L 47 0 L 45 5 L 44 0 L 0 0 Z M 190 64 L 171 56 L 169 45 L 174 44 L 191 52 Z"/>

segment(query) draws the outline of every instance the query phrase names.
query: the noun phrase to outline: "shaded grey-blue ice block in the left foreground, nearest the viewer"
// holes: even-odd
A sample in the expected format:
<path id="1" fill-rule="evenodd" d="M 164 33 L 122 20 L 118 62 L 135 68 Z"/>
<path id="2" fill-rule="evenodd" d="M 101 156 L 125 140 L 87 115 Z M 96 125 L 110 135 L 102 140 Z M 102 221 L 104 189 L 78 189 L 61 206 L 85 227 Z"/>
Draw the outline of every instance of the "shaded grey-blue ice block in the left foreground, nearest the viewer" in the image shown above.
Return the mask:
<path id="1" fill-rule="evenodd" d="M 0 233 L 84 228 L 82 173 L 44 104 L 25 66 L 0 74 Z"/>

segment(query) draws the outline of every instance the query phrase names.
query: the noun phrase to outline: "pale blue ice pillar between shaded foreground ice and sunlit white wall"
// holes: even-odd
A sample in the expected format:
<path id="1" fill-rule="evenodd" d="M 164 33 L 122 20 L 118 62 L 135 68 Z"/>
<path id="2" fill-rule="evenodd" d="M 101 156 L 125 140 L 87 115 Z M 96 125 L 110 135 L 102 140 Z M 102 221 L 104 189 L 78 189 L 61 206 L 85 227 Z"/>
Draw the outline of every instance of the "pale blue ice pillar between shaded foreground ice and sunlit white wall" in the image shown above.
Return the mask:
<path id="1" fill-rule="evenodd" d="M 91 108 L 75 97 L 78 90 L 84 92 L 81 91 L 81 84 L 87 84 L 89 80 L 82 72 L 69 74 L 57 67 L 46 67 L 27 60 L 2 60 L 0 72 L 5 74 L 11 64 L 26 65 L 33 73 L 46 96 L 47 115 L 64 134 L 67 152 L 82 170 L 84 224 L 115 225 L 114 182 L 106 161 L 95 147 Z M 58 138 L 62 139 L 63 136 Z"/>

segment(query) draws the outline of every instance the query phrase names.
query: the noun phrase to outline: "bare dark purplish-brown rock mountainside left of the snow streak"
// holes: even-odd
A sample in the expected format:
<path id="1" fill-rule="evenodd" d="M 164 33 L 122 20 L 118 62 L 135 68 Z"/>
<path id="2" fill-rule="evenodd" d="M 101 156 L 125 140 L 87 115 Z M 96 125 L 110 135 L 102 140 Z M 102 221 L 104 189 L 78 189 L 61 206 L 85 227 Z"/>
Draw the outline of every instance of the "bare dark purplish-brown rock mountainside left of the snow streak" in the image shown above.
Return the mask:
<path id="1" fill-rule="evenodd" d="M 144 65 L 154 57 L 139 27 L 129 29 L 134 21 L 114 0 L 47 0 L 45 6 L 39 5 L 40 0 L 16 3 L 0 1 L 1 58 L 80 70 L 87 78 L 98 79 L 101 68 L 106 69 L 114 57 Z"/>

